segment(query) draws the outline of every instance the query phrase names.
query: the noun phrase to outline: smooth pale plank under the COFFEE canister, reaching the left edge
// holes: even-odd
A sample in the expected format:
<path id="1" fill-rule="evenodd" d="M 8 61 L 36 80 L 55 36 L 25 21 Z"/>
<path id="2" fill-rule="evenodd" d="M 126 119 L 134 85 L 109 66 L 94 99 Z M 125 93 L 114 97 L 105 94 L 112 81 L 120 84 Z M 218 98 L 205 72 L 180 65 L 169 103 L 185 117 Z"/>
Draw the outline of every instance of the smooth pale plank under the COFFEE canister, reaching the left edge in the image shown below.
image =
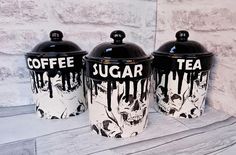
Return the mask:
<path id="1" fill-rule="evenodd" d="M 88 126 L 88 114 L 64 120 L 41 119 L 36 114 L 0 118 L 0 144 Z"/>

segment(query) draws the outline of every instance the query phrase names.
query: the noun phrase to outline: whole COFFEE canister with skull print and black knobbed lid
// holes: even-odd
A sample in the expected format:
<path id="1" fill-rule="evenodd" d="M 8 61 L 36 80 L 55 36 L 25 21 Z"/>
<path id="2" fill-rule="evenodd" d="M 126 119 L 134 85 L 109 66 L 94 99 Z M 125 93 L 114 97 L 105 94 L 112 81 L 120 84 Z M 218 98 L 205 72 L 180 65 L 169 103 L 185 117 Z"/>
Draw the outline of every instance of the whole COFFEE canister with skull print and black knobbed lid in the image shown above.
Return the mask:
<path id="1" fill-rule="evenodd" d="M 87 109 L 82 64 L 87 52 L 63 41 L 61 31 L 51 31 L 50 38 L 25 55 L 33 102 L 42 118 L 68 118 Z"/>

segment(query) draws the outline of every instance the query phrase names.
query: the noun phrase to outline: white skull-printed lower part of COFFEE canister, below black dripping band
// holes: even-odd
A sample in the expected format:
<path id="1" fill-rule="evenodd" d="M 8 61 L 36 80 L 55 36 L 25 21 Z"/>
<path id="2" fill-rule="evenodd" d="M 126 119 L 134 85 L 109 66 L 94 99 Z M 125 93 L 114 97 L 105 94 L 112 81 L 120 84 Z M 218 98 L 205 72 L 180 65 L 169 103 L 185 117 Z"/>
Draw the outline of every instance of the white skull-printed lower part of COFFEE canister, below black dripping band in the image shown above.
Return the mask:
<path id="1" fill-rule="evenodd" d="M 33 102 L 36 105 L 36 112 L 39 117 L 63 119 L 78 115 L 87 109 L 83 88 L 83 72 L 80 75 L 70 72 L 66 77 L 68 79 L 63 79 L 60 72 L 49 77 L 47 71 L 40 76 L 31 70 L 30 75 Z M 78 82 L 79 80 L 80 82 Z M 41 86 L 42 82 L 43 87 Z M 63 90 L 63 83 L 65 90 Z M 68 88 L 69 85 L 70 89 Z M 49 89 L 49 87 L 51 88 Z"/>

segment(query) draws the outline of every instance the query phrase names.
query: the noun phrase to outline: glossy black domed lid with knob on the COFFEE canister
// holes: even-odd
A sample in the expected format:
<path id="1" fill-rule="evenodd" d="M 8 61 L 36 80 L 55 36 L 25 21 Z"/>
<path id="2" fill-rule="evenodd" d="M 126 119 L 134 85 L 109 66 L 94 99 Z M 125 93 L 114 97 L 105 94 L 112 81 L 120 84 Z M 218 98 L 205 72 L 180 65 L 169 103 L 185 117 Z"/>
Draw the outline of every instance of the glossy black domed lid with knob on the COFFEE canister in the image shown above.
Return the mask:
<path id="1" fill-rule="evenodd" d="M 50 41 L 42 42 L 36 45 L 30 54 L 43 54 L 43 55 L 61 55 L 63 53 L 86 54 L 79 46 L 71 41 L 63 41 L 63 33 L 59 30 L 50 32 Z"/>

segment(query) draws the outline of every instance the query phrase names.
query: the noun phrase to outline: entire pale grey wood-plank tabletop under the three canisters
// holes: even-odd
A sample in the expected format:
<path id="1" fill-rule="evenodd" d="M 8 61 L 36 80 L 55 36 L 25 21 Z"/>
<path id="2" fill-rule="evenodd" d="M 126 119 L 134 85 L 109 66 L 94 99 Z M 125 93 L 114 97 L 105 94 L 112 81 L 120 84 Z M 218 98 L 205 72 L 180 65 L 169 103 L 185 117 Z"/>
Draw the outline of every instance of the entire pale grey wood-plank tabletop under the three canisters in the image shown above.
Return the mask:
<path id="1" fill-rule="evenodd" d="M 0 108 L 0 155 L 236 154 L 236 118 L 211 107 L 197 119 L 174 119 L 150 108 L 146 130 L 127 139 L 91 132 L 88 111 L 45 120 L 33 109 Z"/>

